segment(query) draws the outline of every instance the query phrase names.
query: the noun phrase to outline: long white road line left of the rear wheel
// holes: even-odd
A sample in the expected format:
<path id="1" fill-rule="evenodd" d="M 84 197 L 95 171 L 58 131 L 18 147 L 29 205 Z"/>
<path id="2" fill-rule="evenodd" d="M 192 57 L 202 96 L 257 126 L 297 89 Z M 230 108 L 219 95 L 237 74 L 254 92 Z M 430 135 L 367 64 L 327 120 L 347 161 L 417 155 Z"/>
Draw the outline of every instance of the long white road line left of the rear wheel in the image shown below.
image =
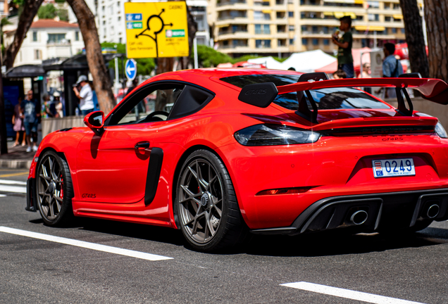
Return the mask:
<path id="1" fill-rule="evenodd" d="M 15 229 L 15 228 L 9 228 L 9 227 L 4 227 L 4 226 L 0 226 L 0 232 L 5 232 L 8 234 L 15 234 L 15 235 L 20 235 L 20 236 L 27 236 L 27 237 L 31 237 L 34 239 L 42 239 L 44 241 L 53 241 L 56 243 L 63 243 L 66 245 L 71 245 L 71 246 L 77 246 L 77 247 L 82 247 L 82 248 L 88 248 L 88 249 L 92 249 L 92 250 L 96 250 L 96 251 L 104 251 L 107 253 L 115 253 L 118 255 L 126 255 L 132 258 L 140 258 L 143 260 L 151 260 L 151 261 L 156 261 L 156 260 L 170 260 L 172 258 L 168 258 L 166 256 L 163 255 L 155 255 L 155 254 L 151 254 L 151 253 L 142 253 L 139 251 L 132 251 L 129 249 L 123 249 L 123 248 L 118 248 L 118 247 L 112 247 L 112 246 L 106 246 L 106 245 L 101 245 L 101 244 L 97 244 L 97 243 L 90 243 L 90 242 L 86 242 L 86 241 L 77 241 L 75 239 L 66 239 L 60 236 L 51 236 L 49 234 L 41 234 L 41 233 L 37 233 L 37 232 L 29 232 L 26 230 L 21 230 L 21 229 Z"/>

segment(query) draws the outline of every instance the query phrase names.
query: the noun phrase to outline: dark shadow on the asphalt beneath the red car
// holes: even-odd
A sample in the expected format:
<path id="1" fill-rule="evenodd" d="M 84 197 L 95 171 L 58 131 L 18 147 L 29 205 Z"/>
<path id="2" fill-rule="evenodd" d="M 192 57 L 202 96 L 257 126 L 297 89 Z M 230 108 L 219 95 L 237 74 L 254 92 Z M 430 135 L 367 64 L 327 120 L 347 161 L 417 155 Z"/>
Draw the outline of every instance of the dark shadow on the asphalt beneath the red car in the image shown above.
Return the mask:
<path id="1" fill-rule="evenodd" d="M 42 220 L 31 220 L 42 224 Z M 78 217 L 71 224 L 60 229 L 83 229 L 104 234 L 113 234 L 135 239 L 145 239 L 176 246 L 185 246 L 180 230 L 166 227 L 132 224 L 110 220 Z M 347 235 L 336 232 L 316 233 L 302 236 L 261 236 L 249 234 L 247 240 L 230 251 L 218 255 L 270 255 L 270 256 L 325 256 L 346 255 L 387 251 L 399 248 L 418 248 L 448 242 L 448 229 L 428 227 L 421 232 L 406 234 L 391 232 L 385 234 Z"/>

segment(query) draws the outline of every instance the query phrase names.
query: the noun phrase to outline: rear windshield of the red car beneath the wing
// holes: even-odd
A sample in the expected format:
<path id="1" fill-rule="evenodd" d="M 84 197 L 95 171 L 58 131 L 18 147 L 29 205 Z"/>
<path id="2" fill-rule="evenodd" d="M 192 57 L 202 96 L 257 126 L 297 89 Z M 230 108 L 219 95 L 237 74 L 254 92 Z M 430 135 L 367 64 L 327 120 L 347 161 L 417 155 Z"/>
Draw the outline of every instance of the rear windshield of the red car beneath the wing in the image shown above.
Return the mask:
<path id="1" fill-rule="evenodd" d="M 220 78 L 221 81 L 233 84 L 236 87 L 244 87 L 247 84 L 256 84 L 261 82 L 273 82 L 275 86 L 293 84 L 299 80 L 300 75 L 242 75 Z M 378 109 L 389 108 L 385 103 L 374 99 L 372 96 L 360 91 L 359 89 L 342 87 L 310 90 L 311 96 L 319 109 L 337 110 L 337 109 Z M 310 110 L 311 103 L 305 95 L 306 103 Z M 297 110 L 299 102 L 297 93 L 279 94 L 274 99 L 274 103 L 289 110 Z"/>

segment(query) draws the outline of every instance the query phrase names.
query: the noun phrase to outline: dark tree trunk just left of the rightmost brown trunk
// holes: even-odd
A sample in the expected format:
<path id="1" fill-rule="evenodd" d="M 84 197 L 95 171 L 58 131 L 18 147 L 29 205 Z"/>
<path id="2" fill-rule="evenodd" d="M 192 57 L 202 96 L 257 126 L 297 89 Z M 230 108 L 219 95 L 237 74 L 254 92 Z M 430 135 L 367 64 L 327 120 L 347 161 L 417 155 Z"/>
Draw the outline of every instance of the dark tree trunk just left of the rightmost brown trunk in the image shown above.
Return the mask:
<path id="1" fill-rule="evenodd" d="M 400 6 L 402 7 L 411 71 L 419 72 L 423 78 L 427 78 L 429 77 L 428 56 L 426 55 L 425 37 L 417 0 L 400 0 Z"/>

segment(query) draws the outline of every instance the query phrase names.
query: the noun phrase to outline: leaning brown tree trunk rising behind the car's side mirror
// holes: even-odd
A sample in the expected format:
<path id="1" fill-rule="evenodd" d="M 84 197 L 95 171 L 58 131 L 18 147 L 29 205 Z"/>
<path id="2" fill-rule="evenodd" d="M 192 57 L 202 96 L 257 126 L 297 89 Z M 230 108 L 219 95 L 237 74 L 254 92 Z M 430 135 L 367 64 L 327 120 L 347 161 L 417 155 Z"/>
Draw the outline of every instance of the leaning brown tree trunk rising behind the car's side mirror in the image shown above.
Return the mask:
<path id="1" fill-rule="evenodd" d="M 85 44 L 87 63 L 94 79 L 94 88 L 97 93 L 99 107 L 107 114 L 111 112 L 116 102 L 112 92 L 111 79 L 101 54 L 101 44 L 99 44 L 95 17 L 85 0 L 67 0 L 67 2 L 73 13 L 75 13 L 77 23 L 80 26 L 82 39 Z"/>

